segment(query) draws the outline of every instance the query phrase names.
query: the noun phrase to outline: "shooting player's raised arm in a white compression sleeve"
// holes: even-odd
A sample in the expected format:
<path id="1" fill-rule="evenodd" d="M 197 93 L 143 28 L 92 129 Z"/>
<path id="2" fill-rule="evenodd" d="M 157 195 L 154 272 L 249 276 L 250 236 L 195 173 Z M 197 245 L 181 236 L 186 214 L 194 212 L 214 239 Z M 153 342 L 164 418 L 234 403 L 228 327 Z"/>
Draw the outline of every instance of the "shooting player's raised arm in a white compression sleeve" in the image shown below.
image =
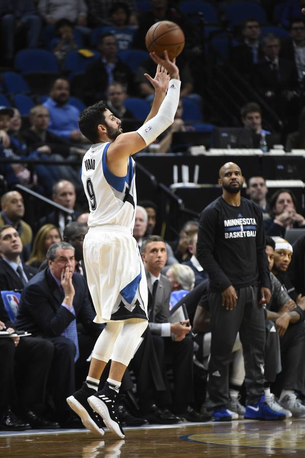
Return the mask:
<path id="1" fill-rule="evenodd" d="M 152 119 L 148 118 L 149 121 L 145 122 L 137 131 L 119 135 L 109 146 L 107 151 L 107 165 L 110 171 L 117 176 L 126 175 L 126 159 L 129 155 L 137 153 L 145 146 L 150 145 L 158 135 L 174 122 L 180 96 L 181 82 L 179 69 L 175 62 L 169 60 L 166 51 L 165 59 L 160 58 L 155 53 L 151 53 L 151 58 L 169 73 L 168 92 L 156 116 Z"/>

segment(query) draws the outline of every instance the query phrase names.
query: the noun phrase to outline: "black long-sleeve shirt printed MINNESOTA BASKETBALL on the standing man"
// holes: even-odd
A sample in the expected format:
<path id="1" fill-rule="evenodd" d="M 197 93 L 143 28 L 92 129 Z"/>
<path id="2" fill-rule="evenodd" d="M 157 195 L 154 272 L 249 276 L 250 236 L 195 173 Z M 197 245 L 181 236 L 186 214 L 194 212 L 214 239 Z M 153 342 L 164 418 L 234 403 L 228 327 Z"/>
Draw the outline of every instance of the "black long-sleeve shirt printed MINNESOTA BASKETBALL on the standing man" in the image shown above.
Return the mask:
<path id="1" fill-rule="evenodd" d="M 212 292 L 232 284 L 270 289 L 262 211 L 248 199 L 241 197 L 234 207 L 221 196 L 203 210 L 196 256 L 209 274 Z"/>

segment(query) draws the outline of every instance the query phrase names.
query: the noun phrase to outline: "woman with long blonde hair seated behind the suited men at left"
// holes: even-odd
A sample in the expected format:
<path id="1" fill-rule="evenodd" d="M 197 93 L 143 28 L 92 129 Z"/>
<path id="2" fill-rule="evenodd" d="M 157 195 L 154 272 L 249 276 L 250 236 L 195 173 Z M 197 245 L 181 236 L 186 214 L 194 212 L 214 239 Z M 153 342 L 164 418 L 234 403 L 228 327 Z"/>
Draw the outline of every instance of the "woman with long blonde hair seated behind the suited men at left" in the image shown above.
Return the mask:
<path id="1" fill-rule="evenodd" d="M 30 254 L 29 261 L 27 261 L 28 266 L 36 267 L 37 269 L 40 265 L 46 260 L 46 253 L 49 247 L 53 243 L 58 243 L 62 241 L 59 228 L 53 224 L 45 224 L 40 227 L 38 233 L 35 236 L 33 249 Z"/>

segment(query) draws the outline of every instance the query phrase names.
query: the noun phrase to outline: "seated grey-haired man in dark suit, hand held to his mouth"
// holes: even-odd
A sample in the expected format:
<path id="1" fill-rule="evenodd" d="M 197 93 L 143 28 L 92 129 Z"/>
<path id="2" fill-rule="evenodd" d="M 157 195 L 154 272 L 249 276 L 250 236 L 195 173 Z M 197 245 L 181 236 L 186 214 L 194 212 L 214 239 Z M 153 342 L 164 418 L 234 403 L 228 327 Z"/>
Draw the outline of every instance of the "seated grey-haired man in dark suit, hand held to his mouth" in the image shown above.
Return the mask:
<path id="1" fill-rule="evenodd" d="M 71 427 L 74 421 L 71 422 L 66 397 L 75 391 L 75 369 L 87 364 L 101 326 L 93 323 L 86 281 L 74 272 L 73 246 L 54 243 L 46 257 L 48 267 L 22 292 L 16 327 L 54 345 L 49 387 L 60 424 Z M 76 323 L 82 325 L 80 330 Z"/>

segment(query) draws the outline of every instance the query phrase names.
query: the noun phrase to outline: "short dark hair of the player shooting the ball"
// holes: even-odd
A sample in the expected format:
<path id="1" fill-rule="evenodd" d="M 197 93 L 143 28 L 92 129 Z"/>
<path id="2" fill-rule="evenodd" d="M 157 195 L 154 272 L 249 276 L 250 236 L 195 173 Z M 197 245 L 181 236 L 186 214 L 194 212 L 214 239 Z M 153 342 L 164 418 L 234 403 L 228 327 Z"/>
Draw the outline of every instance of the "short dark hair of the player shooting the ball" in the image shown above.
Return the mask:
<path id="1" fill-rule="evenodd" d="M 82 110 L 79 115 L 79 130 L 92 144 L 99 142 L 97 126 L 99 124 L 105 124 L 106 109 L 107 105 L 101 100 Z"/>

